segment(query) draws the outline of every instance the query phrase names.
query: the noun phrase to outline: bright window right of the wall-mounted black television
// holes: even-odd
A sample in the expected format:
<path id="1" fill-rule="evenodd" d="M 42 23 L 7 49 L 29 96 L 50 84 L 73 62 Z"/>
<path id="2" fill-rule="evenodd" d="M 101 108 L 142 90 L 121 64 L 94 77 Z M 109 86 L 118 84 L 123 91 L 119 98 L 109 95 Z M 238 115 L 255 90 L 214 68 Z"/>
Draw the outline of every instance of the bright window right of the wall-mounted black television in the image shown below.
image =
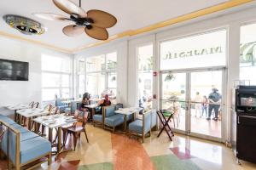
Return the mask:
<path id="1" fill-rule="evenodd" d="M 43 54 L 42 60 L 42 100 L 70 98 L 71 96 L 71 64 L 67 57 L 55 57 Z"/>

